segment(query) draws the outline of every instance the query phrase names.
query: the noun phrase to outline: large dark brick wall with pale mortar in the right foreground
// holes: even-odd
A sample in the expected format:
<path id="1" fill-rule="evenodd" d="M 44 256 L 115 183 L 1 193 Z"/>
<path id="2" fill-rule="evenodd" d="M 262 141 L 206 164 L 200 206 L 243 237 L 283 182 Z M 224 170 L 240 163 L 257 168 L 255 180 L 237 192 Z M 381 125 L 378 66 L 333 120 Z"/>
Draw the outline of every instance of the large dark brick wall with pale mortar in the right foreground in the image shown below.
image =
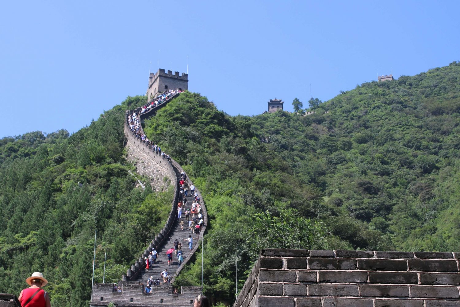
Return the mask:
<path id="1" fill-rule="evenodd" d="M 234 307 L 460 306 L 460 253 L 263 249 Z"/>

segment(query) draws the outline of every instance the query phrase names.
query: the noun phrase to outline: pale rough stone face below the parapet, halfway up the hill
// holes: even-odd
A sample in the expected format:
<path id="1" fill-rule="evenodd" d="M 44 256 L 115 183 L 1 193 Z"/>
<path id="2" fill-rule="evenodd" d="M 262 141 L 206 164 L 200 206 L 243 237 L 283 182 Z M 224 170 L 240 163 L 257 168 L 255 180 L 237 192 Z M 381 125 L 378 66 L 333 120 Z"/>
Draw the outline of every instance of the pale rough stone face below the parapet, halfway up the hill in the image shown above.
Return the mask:
<path id="1" fill-rule="evenodd" d="M 148 158 L 148 156 L 136 146 L 130 146 L 129 143 L 127 143 L 125 148 L 127 151 L 127 161 L 136 166 L 136 172 L 138 174 L 149 178 L 153 190 L 157 192 L 166 191 L 167 187 L 172 182 L 166 170 L 161 168 L 158 163 L 153 162 L 152 159 Z M 159 157 L 154 155 L 153 158 L 157 159 Z M 167 180 L 165 180 L 165 178 L 167 178 Z"/>

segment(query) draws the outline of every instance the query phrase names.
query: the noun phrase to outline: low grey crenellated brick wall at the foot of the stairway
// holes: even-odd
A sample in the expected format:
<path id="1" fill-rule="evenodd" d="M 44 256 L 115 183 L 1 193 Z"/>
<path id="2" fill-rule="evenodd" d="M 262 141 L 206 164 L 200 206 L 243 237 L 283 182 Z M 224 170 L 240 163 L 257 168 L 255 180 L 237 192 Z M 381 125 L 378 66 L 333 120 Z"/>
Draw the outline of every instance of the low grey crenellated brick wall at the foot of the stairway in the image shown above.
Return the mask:
<path id="1" fill-rule="evenodd" d="M 173 286 L 163 283 L 152 287 L 151 293 L 145 293 L 138 282 L 122 281 L 118 285 L 121 292 L 112 292 L 111 284 L 94 284 L 90 306 L 107 306 L 110 302 L 117 307 L 193 306 L 193 300 L 201 293 L 201 287 L 183 286 L 180 294 L 173 294 Z"/>

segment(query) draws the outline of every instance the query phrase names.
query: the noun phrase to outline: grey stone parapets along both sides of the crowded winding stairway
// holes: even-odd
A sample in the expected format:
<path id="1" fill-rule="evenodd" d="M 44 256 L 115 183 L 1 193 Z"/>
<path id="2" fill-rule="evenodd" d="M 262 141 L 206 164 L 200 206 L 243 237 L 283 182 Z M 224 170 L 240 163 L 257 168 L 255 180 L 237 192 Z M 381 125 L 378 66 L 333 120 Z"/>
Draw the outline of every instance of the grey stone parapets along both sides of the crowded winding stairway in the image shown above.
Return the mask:
<path id="1" fill-rule="evenodd" d="M 144 112 L 144 113 L 140 114 L 139 120 L 143 121 L 143 120 L 149 118 L 150 116 L 155 115 L 156 111 L 158 111 L 161 108 L 163 108 L 169 101 L 171 101 L 173 98 L 176 98 L 179 94 L 180 93 L 177 93 L 177 94 L 171 96 L 170 98 L 168 98 L 163 103 L 157 105 L 154 108 L 151 108 L 147 112 Z M 167 171 L 167 173 L 171 177 L 171 180 L 173 181 L 174 197 L 173 197 L 172 209 L 171 209 L 171 212 L 169 214 L 169 217 L 168 217 L 168 220 L 167 220 L 165 226 L 163 227 L 161 232 L 155 237 L 155 239 L 152 240 L 152 243 L 150 243 L 149 248 L 144 250 L 144 254 L 142 255 L 142 257 L 139 257 L 138 261 L 136 261 L 136 264 L 134 266 L 131 266 L 131 269 L 128 269 L 127 276 L 123 277 L 123 280 L 132 280 L 132 281 L 136 280 L 136 278 L 138 277 L 138 274 L 140 272 L 142 272 L 142 270 L 145 268 L 144 257 L 147 257 L 149 255 L 150 251 L 152 251 L 153 248 L 157 249 L 159 246 L 162 246 L 166 242 L 166 240 L 168 239 L 169 233 L 173 229 L 173 225 L 174 225 L 174 223 L 176 221 L 176 217 L 177 217 L 177 214 L 176 214 L 177 213 L 177 203 L 178 203 L 178 198 L 179 198 L 179 191 L 178 191 L 179 178 L 178 178 L 178 174 L 180 174 L 183 171 L 183 169 L 179 165 L 179 163 L 176 162 L 173 159 L 171 159 L 171 163 L 167 162 L 167 160 L 155 159 L 155 153 L 150 148 L 148 148 L 148 147 L 145 148 L 145 145 L 142 144 L 142 141 L 134 136 L 134 133 L 131 131 L 130 127 L 128 126 L 127 117 L 129 115 L 132 115 L 134 112 L 138 112 L 140 110 L 141 110 L 141 108 L 126 111 L 126 113 L 125 113 L 125 125 L 124 125 L 125 126 L 125 128 L 124 128 L 125 137 L 126 137 L 128 142 L 130 142 L 133 146 L 137 145 L 137 148 L 140 151 L 144 152 L 144 154 L 149 156 L 152 161 L 156 162 L 161 168 L 164 168 Z M 141 133 L 144 134 L 144 129 L 142 128 L 142 126 L 140 127 L 140 129 L 141 129 Z M 142 145 L 144 145 L 144 146 L 142 146 Z M 193 184 L 188 176 L 187 176 L 186 182 L 187 182 L 188 186 Z M 200 234 L 199 234 L 199 237 L 198 237 L 198 241 L 197 241 L 197 243 L 198 243 L 198 242 L 200 242 L 200 239 L 201 240 L 203 239 L 203 235 L 206 232 L 208 219 L 207 219 L 207 210 L 206 210 L 204 199 L 201 196 L 201 192 L 199 190 L 197 190 L 197 193 L 198 193 L 198 196 L 201 199 L 201 203 L 202 203 L 201 208 L 202 208 L 202 211 L 203 211 L 202 215 L 203 215 L 203 221 L 204 221 L 204 225 L 201 227 L 201 231 L 200 231 Z M 190 259 L 195 254 L 195 252 L 198 249 L 199 245 L 200 244 L 195 244 L 193 249 L 190 251 L 190 254 L 188 255 L 188 257 L 186 259 L 184 259 L 184 262 L 181 264 L 181 266 L 178 267 L 178 269 L 176 270 L 176 272 L 175 272 L 175 274 L 174 274 L 174 276 L 173 276 L 173 278 L 171 280 L 172 283 L 175 281 L 175 278 L 179 275 L 179 273 L 182 270 L 182 268 L 186 264 L 188 264 L 190 262 Z"/>

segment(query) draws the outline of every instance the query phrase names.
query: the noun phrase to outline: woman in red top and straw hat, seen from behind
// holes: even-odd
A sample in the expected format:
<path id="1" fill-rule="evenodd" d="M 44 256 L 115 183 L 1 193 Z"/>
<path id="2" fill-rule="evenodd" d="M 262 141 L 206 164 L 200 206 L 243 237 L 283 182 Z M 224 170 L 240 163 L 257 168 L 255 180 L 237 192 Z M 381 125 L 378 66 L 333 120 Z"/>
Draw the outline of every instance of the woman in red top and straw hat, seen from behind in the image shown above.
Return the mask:
<path id="1" fill-rule="evenodd" d="M 32 276 L 26 279 L 26 283 L 30 287 L 22 290 L 19 295 L 22 307 L 51 307 L 50 296 L 45 290 L 41 289 L 41 287 L 48 284 L 42 273 L 34 272 Z"/>

